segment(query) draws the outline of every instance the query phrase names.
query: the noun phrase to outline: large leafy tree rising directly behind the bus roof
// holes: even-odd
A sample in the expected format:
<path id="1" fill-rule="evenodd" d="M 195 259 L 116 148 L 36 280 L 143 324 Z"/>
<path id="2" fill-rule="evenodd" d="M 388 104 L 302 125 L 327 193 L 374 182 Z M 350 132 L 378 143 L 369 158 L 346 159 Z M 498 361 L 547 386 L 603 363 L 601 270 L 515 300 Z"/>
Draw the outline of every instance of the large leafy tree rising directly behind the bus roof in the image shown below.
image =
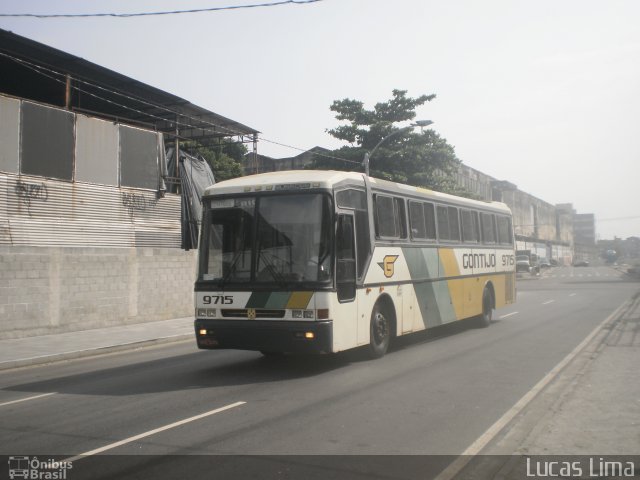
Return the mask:
<path id="1" fill-rule="evenodd" d="M 328 133 L 350 145 L 333 151 L 332 156 L 347 162 L 317 156 L 312 168 L 360 168 L 365 152 L 371 152 L 381 139 L 400 130 L 397 123 L 414 120 L 416 108 L 434 98 L 435 95 L 411 98 L 406 90 L 393 90 L 392 98 L 377 103 L 373 110 L 365 109 L 357 100 L 334 101 L 331 111 L 336 113 L 336 119 L 347 123 Z M 390 137 L 375 151 L 370 170 L 374 177 L 459 194 L 453 175 L 460 163 L 453 146 L 435 131 L 407 130 Z"/>

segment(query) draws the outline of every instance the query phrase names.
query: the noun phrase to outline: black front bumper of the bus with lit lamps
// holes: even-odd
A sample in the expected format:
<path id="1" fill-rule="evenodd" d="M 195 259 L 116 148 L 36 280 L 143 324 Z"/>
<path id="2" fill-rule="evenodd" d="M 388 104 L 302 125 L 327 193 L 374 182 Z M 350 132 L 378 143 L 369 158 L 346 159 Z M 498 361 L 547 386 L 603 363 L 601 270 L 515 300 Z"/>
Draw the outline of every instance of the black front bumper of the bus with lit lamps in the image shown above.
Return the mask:
<path id="1" fill-rule="evenodd" d="M 333 322 L 212 320 L 194 322 L 198 348 L 261 352 L 331 353 Z"/>

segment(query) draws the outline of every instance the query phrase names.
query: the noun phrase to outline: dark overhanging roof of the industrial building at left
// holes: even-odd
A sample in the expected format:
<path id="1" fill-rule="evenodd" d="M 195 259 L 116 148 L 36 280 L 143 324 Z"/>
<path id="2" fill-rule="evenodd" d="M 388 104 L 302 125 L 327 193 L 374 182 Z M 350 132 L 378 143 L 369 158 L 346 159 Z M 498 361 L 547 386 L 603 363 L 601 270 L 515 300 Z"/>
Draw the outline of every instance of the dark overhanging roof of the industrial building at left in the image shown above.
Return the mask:
<path id="1" fill-rule="evenodd" d="M 0 29 L 0 92 L 146 126 L 204 145 L 258 131 L 158 88 Z M 67 97 L 67 78 L 71 95 Z M 246 138 L 245 138 L 246 137 Z"/>

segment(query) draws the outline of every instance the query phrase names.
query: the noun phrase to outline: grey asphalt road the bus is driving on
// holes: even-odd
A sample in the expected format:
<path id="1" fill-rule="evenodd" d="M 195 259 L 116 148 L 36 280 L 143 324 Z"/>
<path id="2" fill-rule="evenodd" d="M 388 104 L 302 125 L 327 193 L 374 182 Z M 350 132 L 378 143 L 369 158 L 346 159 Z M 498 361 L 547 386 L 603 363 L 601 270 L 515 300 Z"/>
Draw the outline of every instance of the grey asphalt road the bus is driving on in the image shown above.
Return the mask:
<path id="1" fill-rule="evenodd" d="M 89 455 L 76 466 L 100 462 L 96 454 L 246 455 L 258 470 L 260 455 L 458 455 L 637 289 L 609 267 L 554 268 L 519 280 L 517 303 L 490 328 L 415 334 L 373 361 L 361 351 L 270 359 L 183 342 L 2 372 L 0 455 Z M 129 474 L 151 464 L 186 471 L 158 457 L 107 458 L 120 460 L 91 476 L 132 462 Z M 375 465 L 361 458 L 365 470 Z M 273 478 L 296 478 L 289 460 L 270 463 L 281 473 Z M 242 477 L 236 464 L 216 468 Z"/>

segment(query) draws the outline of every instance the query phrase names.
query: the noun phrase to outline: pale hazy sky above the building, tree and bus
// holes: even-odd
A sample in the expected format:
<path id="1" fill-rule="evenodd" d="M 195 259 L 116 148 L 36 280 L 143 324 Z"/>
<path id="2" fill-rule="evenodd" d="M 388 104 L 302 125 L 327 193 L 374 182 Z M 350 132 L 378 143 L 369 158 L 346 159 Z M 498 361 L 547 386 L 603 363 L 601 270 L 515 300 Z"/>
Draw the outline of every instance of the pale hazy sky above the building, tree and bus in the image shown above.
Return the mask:
<path id="1" fill-rule="evenodd" d="M 0 13 L 132 13 L 277 0 L 0 0 Z M 343 144 L 329 107 L 435 94 L 417 119 L 468 166 L 640 236 L 640 2 L 321 0 L 132 18 L 0 17 L 261 132 L 258 152 Z M 403 125 L 401 125 L 403 126 Z M 277 142 L 288 145 L 284 147 Z"/>

